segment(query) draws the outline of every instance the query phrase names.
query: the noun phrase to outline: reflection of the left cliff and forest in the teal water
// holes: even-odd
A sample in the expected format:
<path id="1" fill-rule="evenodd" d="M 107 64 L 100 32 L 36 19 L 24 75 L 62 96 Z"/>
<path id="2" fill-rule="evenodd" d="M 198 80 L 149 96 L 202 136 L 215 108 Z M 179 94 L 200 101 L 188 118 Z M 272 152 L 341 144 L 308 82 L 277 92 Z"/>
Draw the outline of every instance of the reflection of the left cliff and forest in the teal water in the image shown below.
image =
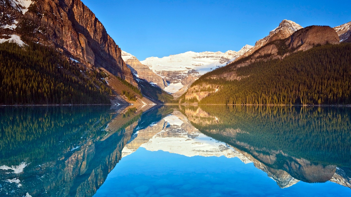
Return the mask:
<path id="1" fill-rule="evenodd" d="M 130 106 L 0 108 L 0 196 L 94 195 L 142 112 Z"/>

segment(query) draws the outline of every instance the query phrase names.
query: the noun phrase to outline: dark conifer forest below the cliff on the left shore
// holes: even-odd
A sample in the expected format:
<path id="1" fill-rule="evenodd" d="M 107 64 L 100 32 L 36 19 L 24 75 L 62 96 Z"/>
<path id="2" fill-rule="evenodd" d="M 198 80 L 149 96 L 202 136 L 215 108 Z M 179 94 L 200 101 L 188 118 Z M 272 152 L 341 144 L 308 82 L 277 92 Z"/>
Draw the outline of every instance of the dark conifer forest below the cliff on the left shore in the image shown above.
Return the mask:
<path id="1" fill-rule="evenodd" d="M 0 104 L 107 104 L 105 77 L 33 42 L 0 44 Z"/>

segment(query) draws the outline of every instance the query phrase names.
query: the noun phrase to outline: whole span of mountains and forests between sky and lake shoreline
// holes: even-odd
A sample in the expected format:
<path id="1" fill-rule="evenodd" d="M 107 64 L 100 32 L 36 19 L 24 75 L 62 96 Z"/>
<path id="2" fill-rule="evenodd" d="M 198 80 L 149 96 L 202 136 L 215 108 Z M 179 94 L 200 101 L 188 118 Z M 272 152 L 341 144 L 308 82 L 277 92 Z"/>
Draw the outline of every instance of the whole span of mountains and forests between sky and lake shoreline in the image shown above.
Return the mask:
<path id="1" fill-rule="evenodd" d="M 0 12 L 2 105 L 351 104 L 351 22 L 283 20 L 237 52 L 139 61 L 80 0 L 0 0 Z"/>

